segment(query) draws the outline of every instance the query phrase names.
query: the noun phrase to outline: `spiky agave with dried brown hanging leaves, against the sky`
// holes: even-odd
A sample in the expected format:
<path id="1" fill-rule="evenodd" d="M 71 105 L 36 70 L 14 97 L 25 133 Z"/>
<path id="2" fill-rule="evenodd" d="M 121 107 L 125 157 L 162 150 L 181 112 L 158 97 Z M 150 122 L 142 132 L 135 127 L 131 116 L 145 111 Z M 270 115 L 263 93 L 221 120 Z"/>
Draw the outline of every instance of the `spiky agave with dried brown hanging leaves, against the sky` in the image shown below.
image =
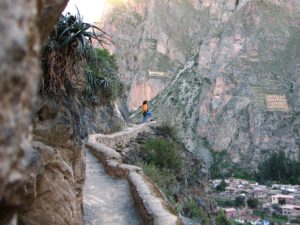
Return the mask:
<path id="1" fill-rule="evenodd" d="M 78 67 L 91 54 L 93 39 L 101 46 L 109 42 L 109 36 L 103 30 L 83 22 L 78 9 L 75 16 L 61 15 L 44 48 L 41 90 L 54 95 L 66 94 L 66 89 L 76 79 Z"/>

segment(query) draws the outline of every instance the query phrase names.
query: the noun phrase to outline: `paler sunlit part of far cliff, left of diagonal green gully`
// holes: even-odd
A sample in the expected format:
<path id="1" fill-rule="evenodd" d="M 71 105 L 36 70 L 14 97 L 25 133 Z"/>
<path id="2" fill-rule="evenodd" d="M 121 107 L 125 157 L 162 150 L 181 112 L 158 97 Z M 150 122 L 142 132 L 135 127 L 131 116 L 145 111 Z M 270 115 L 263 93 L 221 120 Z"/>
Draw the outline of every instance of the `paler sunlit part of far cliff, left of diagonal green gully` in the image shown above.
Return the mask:
<path id="1" fill-rule="evenodd" d="M 107 11 L 105 29 L 117 43 L 110 48 L 118 56 L 122 79 L 130 84 L 127 104 L 131 110 L 169 84 L 208 29 L 201 26 L 207 19 L 190 1 L 132 0 Z"/>

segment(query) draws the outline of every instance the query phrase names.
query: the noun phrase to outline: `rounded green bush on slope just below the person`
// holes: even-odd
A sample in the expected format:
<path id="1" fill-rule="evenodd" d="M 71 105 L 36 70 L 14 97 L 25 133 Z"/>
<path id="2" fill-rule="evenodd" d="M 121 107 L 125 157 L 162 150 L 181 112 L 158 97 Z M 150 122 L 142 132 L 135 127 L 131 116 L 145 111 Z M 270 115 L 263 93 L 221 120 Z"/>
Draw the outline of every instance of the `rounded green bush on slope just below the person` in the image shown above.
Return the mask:
<path id="1" fill-rule="evenodd" d="M 153 138 L 142 145 L 141 150 L 142 158 L 148 164 L 171 171 L 179 171 L 182 167 L 182 159 L 174 141 Z"/>

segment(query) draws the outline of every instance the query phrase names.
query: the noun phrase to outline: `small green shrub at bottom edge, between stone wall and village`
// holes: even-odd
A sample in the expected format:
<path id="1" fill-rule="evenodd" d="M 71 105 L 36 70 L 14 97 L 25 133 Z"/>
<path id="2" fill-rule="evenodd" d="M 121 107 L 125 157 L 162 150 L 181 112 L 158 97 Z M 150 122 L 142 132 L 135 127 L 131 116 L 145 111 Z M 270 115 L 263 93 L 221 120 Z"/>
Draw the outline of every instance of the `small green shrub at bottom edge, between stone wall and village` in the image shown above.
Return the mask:
<path id="1" fill-rule="evenodd" d="M 198 206 L 195 199 L 184 202 L 181 208 L 184 216 L 199 219 L 202 221 L 201 224 L 209 224 L 209 218 L 207 214 L 201 207 Z"/>

